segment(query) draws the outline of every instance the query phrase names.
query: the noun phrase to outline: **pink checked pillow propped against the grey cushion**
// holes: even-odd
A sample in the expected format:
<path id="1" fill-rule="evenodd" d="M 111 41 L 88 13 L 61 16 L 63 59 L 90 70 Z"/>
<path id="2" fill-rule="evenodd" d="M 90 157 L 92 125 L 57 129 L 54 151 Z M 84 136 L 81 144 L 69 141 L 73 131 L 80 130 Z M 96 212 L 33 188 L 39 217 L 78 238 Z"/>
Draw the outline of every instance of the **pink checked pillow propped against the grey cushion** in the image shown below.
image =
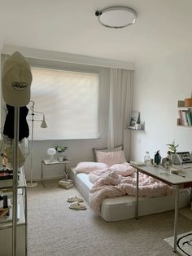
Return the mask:
<path id="1" fill-rule="evenodd" d="M 102 152 L 97 150 L 96 159 L 98 162 L 107 164 L 107 166 L 113 166 L 126 162 L 123 150 L 114 152 Z"/>

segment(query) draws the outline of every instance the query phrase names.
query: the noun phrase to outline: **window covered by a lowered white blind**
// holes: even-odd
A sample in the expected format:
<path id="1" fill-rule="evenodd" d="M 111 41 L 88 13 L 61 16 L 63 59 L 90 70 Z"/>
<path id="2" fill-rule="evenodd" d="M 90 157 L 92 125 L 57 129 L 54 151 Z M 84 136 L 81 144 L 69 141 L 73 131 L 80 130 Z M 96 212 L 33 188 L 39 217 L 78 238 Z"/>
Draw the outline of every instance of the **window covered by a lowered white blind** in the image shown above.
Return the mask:
<path id="1" fill-rule="evenodd" d="M 45 113 L 48 126 L 42 129 L 34 121 L 34 139 L 98 138 L 98 73 L 31 69 L 31 100 L 35 111 Z"/>

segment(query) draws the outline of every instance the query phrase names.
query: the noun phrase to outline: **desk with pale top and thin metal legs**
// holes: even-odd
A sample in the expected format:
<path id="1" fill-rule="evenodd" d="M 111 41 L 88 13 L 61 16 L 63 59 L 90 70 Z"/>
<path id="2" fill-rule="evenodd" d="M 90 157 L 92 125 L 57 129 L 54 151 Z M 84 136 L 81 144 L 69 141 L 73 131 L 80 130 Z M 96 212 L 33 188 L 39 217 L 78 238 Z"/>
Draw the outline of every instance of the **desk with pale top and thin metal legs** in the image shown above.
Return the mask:
<path id="1" fill-rule="evenodd" d="M 182 176 L 172 174 L 168 171 L 162 170 L 160 166 L 136 166 L 131 164 L 137 170 L 137 192 L 136 192 L 136 218 L 138 219 L 138 175 L 139 172 L 149 175 L 163 183 L 168 184 L 175 188 L 175 214 L 174 214 L 174 244 L 173 251 L 177 252 L 177 218 L 178 218 L 178 201 L 179 201 L 179 188 L 189 188 L 192 182 L 192 167 L 182 169 Z M 191 165 L 190 165 L 191 166 Z M 181 170 L 181 166 L 172 166 Z"/>

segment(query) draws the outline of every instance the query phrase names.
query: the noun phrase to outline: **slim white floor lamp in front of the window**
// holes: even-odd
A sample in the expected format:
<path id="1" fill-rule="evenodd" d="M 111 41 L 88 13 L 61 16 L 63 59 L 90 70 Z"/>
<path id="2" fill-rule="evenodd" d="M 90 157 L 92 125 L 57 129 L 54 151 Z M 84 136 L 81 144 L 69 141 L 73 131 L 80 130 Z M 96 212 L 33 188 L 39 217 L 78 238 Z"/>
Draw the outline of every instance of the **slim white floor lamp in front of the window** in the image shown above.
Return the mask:
<path id="1" fill-rule="evenodd" d="M 34 110 L 34 105 L 35 102 L 32 100 L 30 101 L 32 103 L 31 106 L 31 115 L 32 119 L 28 121 L 32 121 L 32 130 L 31 130 L 31 147 L 30 147 L 30 181 L 27 183 L 28 188 L 34 188 L 37 187 L 37 183 L 33 182 L 33 131 L 34 131 L 34 121 L 41 121 L 41 128 L 47 128 L 46 125 L 46 119 L 45 119 L 45 114 L 39 111 Z M 42 115 L 42 119 L 34 119 L 35 115 Z"/>

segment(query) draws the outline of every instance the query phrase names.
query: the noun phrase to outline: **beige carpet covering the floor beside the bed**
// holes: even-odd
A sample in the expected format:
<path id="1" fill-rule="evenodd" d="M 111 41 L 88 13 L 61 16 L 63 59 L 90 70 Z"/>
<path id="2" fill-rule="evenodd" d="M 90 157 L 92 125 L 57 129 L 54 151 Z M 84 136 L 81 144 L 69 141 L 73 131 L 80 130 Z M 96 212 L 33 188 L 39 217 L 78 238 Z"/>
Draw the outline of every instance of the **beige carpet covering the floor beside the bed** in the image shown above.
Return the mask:
<path id="1" fill-rule="evenodd" d="M 68 208 L 76 188 L 58 188 L 46 181 L 28 188 L 28 256 L 175 256 L 164 241 L 173 236 L 173 211 L 138 220 L 107 223 L 87 210 Z M 190 232 L 192 222 L 179 214 L 178 233 Z"/>

